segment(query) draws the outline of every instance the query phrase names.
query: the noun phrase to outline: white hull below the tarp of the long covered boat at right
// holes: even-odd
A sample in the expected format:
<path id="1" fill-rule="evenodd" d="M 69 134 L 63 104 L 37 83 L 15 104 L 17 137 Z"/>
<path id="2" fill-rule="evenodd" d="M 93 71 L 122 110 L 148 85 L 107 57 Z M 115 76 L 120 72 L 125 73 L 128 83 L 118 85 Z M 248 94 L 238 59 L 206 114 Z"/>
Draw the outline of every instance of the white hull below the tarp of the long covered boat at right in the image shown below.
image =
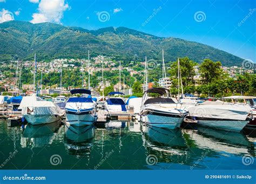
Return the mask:
<path id="1" fill-rule="evenodd" d="M 225 119 L 198 119 L 198 124 L 214 129 L 240 132 L 250 121 L 225 120 Z"/>

